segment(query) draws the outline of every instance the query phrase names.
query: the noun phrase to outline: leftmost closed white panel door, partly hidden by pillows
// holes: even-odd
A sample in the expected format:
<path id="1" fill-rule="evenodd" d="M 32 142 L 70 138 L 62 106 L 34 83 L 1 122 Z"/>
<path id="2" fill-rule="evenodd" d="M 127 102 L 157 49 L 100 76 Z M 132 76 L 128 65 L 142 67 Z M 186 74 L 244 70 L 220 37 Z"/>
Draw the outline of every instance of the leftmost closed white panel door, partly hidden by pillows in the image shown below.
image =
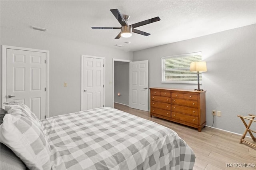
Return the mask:
<path id="1" fill-rule="evenodd" d="M 12 100 L 46 117 L 46 53 L 6 49 L 6 101 Z"/>

